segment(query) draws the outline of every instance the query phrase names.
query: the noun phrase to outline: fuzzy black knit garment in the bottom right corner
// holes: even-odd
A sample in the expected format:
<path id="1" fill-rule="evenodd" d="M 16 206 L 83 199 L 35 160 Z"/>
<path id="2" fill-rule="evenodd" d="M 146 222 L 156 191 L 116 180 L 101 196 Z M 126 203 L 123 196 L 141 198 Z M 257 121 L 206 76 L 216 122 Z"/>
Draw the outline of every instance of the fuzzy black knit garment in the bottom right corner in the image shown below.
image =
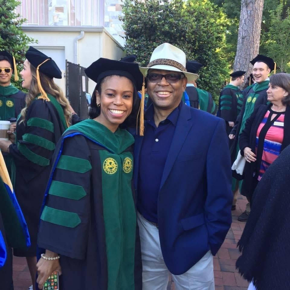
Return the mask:
<path id="1" fill-rule="evenodd" d="M 290 146 L 266 170 L 238 246 L 237 268 L 257 290 L 289 290 Z"/>

